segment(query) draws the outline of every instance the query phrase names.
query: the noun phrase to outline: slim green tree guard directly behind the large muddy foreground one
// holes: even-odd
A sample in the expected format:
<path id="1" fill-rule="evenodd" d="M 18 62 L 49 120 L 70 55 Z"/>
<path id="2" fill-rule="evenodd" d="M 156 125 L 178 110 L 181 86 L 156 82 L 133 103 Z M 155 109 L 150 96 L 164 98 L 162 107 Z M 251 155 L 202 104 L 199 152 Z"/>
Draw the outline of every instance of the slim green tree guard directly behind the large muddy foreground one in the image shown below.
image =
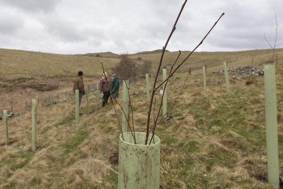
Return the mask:
<path id="1" fill-rule="evenodd" d="M 122 132 L 123 133 L 128 132 L 128 121 L 129 121 L 129 116 L 128 116 L 129 92 L 128 92 L 126 83 L 127 85 L 129 85 L 129 81 L 123 81 L 123 110 L 124 110 L 124 112 L 122 111 Z"/>

